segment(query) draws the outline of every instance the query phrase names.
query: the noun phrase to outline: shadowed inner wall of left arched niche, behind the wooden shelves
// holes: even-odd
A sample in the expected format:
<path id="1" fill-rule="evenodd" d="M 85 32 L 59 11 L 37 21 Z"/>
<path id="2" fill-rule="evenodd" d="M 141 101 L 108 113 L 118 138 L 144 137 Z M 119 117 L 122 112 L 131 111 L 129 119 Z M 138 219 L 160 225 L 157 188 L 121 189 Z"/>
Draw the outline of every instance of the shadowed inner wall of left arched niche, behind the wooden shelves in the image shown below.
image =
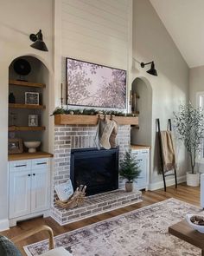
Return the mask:
<path id="1" fill-rule="evenodd" d="M 13 69 L 14 62 L 19 59 L 25 59 L 30 63 L 31 71 L 29 75 L 25 75 L 24 77 L 20 77 L 20 75 L 16 74 Z M 19 109 L 19 108 L 10 108 L 8 122 L 10 125 L 16 126 L 28 126 L 29 125 L 29 115 L 38 115 L 39 126 L 45 126 L 45 131 L 30 131 L 30 132 L 15 132 L 15 134 L 9 134 L 9 136 L 15 136 L 16 138 L 21 138 L 22 141 L 41 141 L 41 151 L 52 152 L 52 139 L 51 138 L 51 125 L 50 125 L 50 112 L 52 111 L 52 89 L 53 89 L 53 70 L 50 69 L 48 63 L 41 58 L 41 56 L 37 55 L 23 55 L 16 56 L 14 59 L 10 61 L 9 65 L 9 80 L 17 80 L 24 79 L 29 82 L 41 82 L 46 84 L 45 89 L 36 89 L 31 87 L 16 87 L 9 86 L 9 94 L 12 92 L 16 97 L 16 103 L 24 103 L 25 102 L 25 92 L 39 92 L 40 93 L 40 103 L 45 105 L 46 108 L 44 110 L 39 109 Z M 9 84 L 9 81 L 8 81 Z M 54 108 L 52 108 L 54 109 Z M 51 111 L 50 111 L 51 110 Z M 12 114 L 12 115 L 11 115 Z M 13 115 L 15 115 L 15 123 L 13 119 Z"/>

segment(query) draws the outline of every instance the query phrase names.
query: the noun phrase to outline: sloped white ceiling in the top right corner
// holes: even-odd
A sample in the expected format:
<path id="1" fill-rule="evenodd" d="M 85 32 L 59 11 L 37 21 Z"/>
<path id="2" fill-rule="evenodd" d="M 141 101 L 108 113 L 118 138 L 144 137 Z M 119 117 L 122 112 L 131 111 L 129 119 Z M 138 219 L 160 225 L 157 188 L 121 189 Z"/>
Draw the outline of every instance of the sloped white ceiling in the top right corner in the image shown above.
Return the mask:
<path id="1" fill-rule="evenodd" d="M 204 0 L 150 0 L 190 68 L 204 65 Z"/>

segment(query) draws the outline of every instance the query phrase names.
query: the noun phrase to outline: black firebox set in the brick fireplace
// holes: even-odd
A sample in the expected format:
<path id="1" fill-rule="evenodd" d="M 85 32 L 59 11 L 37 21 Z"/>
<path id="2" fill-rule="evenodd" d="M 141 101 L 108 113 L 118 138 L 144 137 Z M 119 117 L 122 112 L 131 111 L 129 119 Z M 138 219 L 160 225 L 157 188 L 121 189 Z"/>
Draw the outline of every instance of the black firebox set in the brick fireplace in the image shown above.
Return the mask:
<path id="1" fill-rule="evenodd" d="M 86 195 L 118 189 L 118 148 L 72 149 L 70 179 L 74 190 L 86 185 Z"/>

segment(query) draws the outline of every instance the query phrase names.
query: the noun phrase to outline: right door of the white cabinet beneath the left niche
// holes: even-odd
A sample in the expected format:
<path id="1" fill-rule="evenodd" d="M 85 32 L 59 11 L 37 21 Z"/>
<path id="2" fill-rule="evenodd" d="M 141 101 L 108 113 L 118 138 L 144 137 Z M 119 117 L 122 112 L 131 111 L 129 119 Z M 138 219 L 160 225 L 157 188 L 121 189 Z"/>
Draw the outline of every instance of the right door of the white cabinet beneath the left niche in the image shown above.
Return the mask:
<path id="1" fill-rule="evenodd" d="M 37 168 L 32 170 L 31 212 L 37 213 L 49 208 L 50 204 L 50 170 Z"/>

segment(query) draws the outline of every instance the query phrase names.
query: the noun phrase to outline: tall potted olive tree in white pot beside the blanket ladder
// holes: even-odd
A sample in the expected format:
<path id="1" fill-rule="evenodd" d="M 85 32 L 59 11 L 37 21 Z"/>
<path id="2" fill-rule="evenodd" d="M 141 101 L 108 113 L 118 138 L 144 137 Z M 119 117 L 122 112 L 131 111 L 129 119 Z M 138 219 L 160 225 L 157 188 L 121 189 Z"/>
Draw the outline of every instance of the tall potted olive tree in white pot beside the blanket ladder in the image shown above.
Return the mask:
<path id="1" fill-rule="evenodd" d="M 181 105 L 178 113 L 174 112 L 175 131 L 183 141 L 190 159 L 191 170 L 187 173 L 187 185 L 199 186 L 199 174 L 196 173 L 195 160 L 201 152 L 204 138 L 204 116 L 201 108 L 194 108 L 191 103 Z"/>

